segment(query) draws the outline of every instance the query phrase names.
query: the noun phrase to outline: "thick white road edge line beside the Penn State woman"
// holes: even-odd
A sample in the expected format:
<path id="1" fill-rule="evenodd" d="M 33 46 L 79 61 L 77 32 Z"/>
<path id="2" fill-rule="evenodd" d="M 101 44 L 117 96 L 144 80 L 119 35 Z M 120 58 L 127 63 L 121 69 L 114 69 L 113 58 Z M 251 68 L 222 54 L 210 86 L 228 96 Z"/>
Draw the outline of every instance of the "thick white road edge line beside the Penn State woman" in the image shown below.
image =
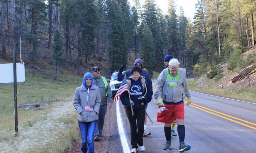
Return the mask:
<path id="1" fill-rule="evenodd" d="M 123 152 L 130 152 L 128 142 L 127 142 L 127 139 L 126 139 L 126 136 L 125 136 L 125 133 L 124 133 L 122 120 L 121 120 L 121 111 L 119 109 L 119 100 L 116 101 L 116 119 L 117 119 L 117 126 L 118 126 L 119 136 L 120 136 L 121 143 L 122 143 L 122 146 L 123 146 Z"/>

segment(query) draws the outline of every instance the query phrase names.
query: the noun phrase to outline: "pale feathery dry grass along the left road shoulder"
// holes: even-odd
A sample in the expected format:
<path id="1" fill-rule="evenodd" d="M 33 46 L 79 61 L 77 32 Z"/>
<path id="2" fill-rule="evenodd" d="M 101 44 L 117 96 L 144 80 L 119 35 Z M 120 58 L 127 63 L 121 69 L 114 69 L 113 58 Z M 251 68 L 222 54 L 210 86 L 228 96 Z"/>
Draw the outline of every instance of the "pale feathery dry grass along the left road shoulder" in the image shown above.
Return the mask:
<path id="1" fill-rule="evenodd" d="M 53 103 L 51 107 L 20 124 L 17 137 L 14 130 L 1 131 L 0 152 L 63 152 L 76 140 L 76 120 L 71 99 Z"/>

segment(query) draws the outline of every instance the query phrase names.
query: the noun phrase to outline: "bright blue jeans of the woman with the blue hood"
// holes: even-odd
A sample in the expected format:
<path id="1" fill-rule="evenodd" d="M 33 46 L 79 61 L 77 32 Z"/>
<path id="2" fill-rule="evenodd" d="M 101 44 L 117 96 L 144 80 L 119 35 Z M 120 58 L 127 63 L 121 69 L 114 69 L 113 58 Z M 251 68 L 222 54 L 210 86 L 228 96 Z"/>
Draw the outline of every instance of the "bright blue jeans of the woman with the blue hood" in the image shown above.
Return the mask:
<path id="1" fill-rule="evenodd" d="M 83 153 L 87 153 L 87 150 L 89 150 L 88 153 L 94 153 L 93 133 L 96 127 L 96 123 L 97 123 L 97 120 L 92 122 L 78 121 L 81 137 L 82 137 L 81 151 Z"/>

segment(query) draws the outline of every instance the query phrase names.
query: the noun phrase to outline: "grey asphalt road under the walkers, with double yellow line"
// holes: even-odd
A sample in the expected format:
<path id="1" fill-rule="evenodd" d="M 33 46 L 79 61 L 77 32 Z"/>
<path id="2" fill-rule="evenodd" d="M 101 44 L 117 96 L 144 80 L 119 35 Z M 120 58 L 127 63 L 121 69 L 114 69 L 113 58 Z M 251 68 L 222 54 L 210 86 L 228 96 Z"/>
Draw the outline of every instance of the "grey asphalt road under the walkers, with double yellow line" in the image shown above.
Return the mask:
<path id="1" fill-rule="evenodd" d="M 154 85 L 155 81 L 153 81 Z M 153 88 L 154 89 L 154 88 Z M 190 91 L 191 105 L 185 105 L 185 142 L 193 153 L 255 153 L 256 152 L 256 104 Z M 118 106 L 119 104 L 119 106 Z M 123 128 L 117 150 L 130 152 L 130 125 L 125 124 L 124 107 L 119 102 L 120 122 Z M 147 130 L 152 133 L 143 137 L 147 153 L 179 152 L 179 136 L 172 137 L 172 148 L 162 150 L 165 144 L 164 123 L 156 122 L 157 108 L 148 103 Z M 117 110 L 118 111 L 118 110 Z M 128 119 L 127 119 L 128 120 Z M 117 118 L 118 121 L 118 118 Z M 118 127 L 119 131 L 120 128 Z M 177 125 L 175 127 L 177 133 Z M 126 143 L 125 143 L 126 142 Z M 126 144 L 126 145 L 125 145 Z M 128 145 L 128 146 L 127 146 Z M 123 150 L 123 151 L 121 151 Z M 140 151 L 138 151 L 140 152 Z"/>

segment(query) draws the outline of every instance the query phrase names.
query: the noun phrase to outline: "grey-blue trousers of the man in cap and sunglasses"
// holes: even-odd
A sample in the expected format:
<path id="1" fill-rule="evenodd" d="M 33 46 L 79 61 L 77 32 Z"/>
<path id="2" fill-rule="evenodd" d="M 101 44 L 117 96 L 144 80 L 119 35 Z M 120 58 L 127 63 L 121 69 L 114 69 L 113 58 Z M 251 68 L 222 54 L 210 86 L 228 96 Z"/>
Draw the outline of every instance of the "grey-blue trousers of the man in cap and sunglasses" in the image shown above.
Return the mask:
<path id="1" fill-rule="evenodd" d="M 99 115 L 98 115 L 99 119 L 98 119 L 96 127 L 95 127 L 94 136 L 95 135 L 100 136 L 102 134 L 106 113 L 107 113 L 107 104 L 101 105 Z"/>

